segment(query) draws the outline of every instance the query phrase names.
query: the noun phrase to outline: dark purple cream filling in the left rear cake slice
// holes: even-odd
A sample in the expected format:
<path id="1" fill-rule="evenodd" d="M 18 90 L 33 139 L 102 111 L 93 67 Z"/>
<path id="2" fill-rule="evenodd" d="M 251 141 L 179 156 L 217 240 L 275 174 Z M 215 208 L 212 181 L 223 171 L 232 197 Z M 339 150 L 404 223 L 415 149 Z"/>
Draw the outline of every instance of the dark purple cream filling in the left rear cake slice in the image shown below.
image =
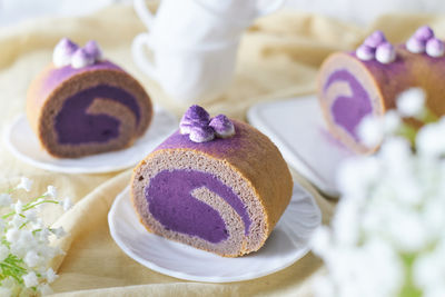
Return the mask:
<path id="1" fill-rule="evenodd" d="M 119 136 L 120 122 L 107 115 L 88 115 L 96 98 L 117 101 L 128 107 L 139 122 L 139 107 L 132 95 L 120 88 L 100 85 L 69 97 L 56 116 L 55 129 L 63 145 L 106 142 Z"/>

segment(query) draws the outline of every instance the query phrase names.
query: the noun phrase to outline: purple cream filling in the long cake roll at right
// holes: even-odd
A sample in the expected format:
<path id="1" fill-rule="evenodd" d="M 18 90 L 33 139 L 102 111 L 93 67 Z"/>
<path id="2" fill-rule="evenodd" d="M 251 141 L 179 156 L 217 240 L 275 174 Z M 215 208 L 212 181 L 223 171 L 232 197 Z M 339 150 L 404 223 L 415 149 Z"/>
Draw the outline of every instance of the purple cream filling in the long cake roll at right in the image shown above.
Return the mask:
<path id="1" fill-rule="evenodd" d="M 332 106 L 334 121 L 343 127 L 354 139 L 358 140 L 356 129 L 362 119 L 373 111 L 370 99 L 358 80 L 347 70 L 338 70 L 332 73 L 324 86 L 326 91 L 330 85 L 337 81 L 346 81 L 353 95 L 339 96 Z"/>

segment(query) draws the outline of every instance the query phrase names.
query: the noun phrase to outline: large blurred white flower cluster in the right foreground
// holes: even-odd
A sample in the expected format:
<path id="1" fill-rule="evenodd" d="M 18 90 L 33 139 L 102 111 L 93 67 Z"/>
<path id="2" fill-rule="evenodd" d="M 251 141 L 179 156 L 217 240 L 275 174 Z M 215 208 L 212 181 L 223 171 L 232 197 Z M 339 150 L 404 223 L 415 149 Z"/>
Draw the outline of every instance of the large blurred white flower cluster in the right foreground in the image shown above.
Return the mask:
<path id="1" fill-rule="evenodd" d="M 422 90 L 409 90 L 396 110 L 360 125 L 380 148 L 340 166 L 332 226 L 312 240 L 328 271 L 317 296 L 445 296 L 445 118 L 431 122 L 424 103 Z"/>

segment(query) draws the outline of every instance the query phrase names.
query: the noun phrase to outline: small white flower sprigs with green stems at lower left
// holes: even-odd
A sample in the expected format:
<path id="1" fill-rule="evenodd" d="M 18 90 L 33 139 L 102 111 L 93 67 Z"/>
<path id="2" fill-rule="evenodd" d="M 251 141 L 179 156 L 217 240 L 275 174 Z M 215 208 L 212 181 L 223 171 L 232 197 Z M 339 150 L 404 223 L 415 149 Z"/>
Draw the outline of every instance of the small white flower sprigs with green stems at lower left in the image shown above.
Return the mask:
<path id="1" fill-rule="evenodd" d="M 52 293 L 49 284 L 57 274 L 49 267 L 53 257 L 63 251 L 51 245 L 51 239 L 66 236 L 62 227 L 50 228 L 38 217 L 38 209 L 56 204 L 68 209 L 69 198 L 57 200 L 57 189 L 29 201 L 12 198 L 14 191 L 31 189 L 32 180 L 21 178 L 20 184 L 0 194 L 0 296 L 44 296 Z M 16 200 L 16 202 L 14 202 Z"/>

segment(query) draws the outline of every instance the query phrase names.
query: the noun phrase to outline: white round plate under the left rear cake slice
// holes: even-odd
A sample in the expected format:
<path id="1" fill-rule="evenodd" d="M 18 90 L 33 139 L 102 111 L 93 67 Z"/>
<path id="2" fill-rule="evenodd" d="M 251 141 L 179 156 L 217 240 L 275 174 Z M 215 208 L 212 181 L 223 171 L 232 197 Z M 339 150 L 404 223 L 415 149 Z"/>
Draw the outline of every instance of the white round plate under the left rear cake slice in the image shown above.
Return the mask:
<path id="1" fill-rule="evenodd" d="M 135 166 L 177 127 L 178 121 L 174 115 L 155 107 L 150 127 L 131 147 L 77 159 L 58 159 L 44 151 L 24 115 L 20 115 L 6 129 L 3 137 L 12 155 L 34 167 L 66 174 L 98 174 Z"/>

